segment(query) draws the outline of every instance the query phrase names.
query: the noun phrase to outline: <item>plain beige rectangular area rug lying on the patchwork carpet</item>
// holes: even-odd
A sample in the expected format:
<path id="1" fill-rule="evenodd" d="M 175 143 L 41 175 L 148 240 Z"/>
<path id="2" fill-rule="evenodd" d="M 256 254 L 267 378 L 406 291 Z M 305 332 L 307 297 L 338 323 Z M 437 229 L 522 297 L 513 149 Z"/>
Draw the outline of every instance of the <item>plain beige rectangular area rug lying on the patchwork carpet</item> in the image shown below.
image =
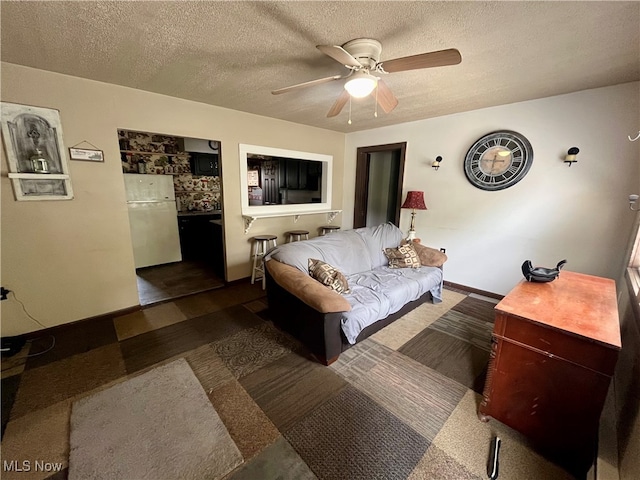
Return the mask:
<path id="1" fill-rule="evenodd" d="M 73 403 L 69 479 L 219 479 L 242 455 L 185 359 Z"/>

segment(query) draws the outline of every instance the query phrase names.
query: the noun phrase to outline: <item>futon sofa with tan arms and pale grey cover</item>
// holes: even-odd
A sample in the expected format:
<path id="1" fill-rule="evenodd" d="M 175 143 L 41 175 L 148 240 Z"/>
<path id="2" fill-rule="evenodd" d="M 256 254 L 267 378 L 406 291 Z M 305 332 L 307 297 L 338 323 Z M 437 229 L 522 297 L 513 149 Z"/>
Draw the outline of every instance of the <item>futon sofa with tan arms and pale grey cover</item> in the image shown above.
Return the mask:
<path id="1" fill-rule="evenodd" d="M 329 365 L 423 302 L 441 302 L 446 256 L 402 237 L 387 223 L 275 247 L 265 256 L 273 322 Z M 312 263 L 333 272 L 331 281 L 312 277 Z"/>

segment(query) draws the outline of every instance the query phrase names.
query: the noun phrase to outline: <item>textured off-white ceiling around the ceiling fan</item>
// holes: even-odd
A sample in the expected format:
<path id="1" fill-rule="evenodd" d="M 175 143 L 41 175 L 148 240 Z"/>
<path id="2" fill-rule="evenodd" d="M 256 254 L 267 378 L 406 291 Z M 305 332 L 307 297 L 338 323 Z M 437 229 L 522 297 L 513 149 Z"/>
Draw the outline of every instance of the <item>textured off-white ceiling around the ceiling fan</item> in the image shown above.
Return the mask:
<path id="1" fill-rule="evenodd" d="M 350 132 L 640 79 L 638 2 L 0 4 L 2 61 Z M 457 48 L 460 65 L 384 77 L 399 100 L 329 108 L 347 73 L 318 44 L 368 37 L 382 60 Z"/>

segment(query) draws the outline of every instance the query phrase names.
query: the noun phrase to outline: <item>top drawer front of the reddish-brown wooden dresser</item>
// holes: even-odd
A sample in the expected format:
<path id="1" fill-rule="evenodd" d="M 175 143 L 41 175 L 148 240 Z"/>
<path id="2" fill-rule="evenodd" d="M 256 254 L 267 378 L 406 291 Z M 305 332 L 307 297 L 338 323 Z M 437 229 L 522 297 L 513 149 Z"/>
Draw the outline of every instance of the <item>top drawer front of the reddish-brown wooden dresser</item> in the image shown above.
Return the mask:
<path id="1" fill-rule="evenodd" d="M 613 376 L 618 350 L 591 339 L 496 311 L 494 335 L 547 356 Z"/>

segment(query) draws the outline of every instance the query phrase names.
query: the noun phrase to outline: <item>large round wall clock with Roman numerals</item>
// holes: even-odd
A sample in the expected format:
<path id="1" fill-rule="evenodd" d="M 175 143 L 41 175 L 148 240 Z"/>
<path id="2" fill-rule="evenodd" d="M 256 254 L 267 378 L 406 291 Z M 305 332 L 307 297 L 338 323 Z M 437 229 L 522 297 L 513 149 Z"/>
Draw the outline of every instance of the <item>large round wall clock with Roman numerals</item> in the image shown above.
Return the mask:
<path id="1" fill-rule="evenodd" d="M 509 188 L 524 178 L 533 163 L 533 148 L 524 135 L 511 130 L 478 139 L 464 158 L 464 173 L 482 190 Z"/>

